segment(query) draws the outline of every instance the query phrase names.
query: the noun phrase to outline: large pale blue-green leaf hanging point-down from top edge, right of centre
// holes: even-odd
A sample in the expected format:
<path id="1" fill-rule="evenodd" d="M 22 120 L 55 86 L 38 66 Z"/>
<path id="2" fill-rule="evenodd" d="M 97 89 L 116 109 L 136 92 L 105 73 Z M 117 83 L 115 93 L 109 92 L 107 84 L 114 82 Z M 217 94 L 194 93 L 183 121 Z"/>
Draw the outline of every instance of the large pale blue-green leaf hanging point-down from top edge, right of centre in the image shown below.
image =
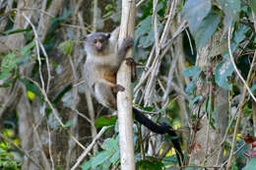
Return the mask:
<path id="1" fill-rule="evenodd" d="M 189 28 L 194 34 L 203 19 L 208 15 L 212 7 L 209 0 L 188 0 L 182 10 L 184 18 L 188 21 Z"/>

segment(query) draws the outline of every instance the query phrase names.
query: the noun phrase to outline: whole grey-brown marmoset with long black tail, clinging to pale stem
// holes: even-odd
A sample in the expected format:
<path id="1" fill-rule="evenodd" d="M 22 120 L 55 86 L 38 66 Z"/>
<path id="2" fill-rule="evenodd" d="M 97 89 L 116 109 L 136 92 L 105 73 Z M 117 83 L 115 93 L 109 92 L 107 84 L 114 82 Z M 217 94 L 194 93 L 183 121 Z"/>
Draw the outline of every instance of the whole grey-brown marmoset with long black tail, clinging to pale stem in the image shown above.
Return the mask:
<path id="1" fill-rule="evenodd" d="M 116 73 L 125 59 L 126 52 L 133 46 L 133 38 L 124 39 L 118 48 L 117 39 L 119 28 L 111 33 L 94 32 L 85 40 L 87 60 L 84 68 L 84 76 L 91 92 L 96 100 L 103 106 L 116 110 L 116 93 L 124 90 L 121 85 L 116 85 Z M 117 49 L 118 48 L 118 49 Z M 183 154 L 176 133 L 166 124 L 158 125 L 140 110 L 133 108 L 135 119 L 154 133 L 165 134 L 174 137 L 171 141 L 176 149 L 179 165 L 183 160 Z"/>

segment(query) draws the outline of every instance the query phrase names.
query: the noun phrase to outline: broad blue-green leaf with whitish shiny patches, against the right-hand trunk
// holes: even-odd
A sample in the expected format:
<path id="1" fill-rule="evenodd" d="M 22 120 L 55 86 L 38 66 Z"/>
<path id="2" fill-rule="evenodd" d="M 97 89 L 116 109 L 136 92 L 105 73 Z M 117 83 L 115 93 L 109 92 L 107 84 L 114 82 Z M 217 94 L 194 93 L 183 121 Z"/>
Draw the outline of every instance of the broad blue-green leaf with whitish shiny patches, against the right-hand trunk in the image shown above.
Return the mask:
<path id="1" fill-rule="evenodd" d="M 222 61 L 215 68 L 215 82 L 217 85 L 225 89 L 231 89 L 231 85 L 227 84 L 227 77 L 233 73 L 233 66 L 229 60 Z"/>

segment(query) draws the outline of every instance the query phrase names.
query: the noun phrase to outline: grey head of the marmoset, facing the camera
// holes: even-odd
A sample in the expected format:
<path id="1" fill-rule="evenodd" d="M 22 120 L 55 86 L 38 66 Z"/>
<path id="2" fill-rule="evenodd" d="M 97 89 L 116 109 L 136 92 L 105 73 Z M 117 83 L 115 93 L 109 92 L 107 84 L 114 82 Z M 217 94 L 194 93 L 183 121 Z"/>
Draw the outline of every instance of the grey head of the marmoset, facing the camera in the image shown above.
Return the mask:
<path id="1" fill-rule="evenodd" d="M 85 50 L 89 54 L 105 55 L 109 47 L 110 33 L 95 32 L 87 36 L 85 41 Z"/>

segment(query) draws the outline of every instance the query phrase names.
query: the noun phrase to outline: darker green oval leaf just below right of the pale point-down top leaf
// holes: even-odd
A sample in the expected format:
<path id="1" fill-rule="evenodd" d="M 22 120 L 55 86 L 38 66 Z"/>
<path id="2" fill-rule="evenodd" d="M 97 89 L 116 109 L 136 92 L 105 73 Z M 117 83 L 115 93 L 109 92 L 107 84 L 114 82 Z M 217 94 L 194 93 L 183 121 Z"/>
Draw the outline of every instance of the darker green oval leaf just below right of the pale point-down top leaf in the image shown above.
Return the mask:
<path id="1" fill-rule="evenodd" d="M 198 48 L 202 48 L 211 38 L 216 28 L 221 22 L 221 17 L 216 13 L 210 13 L 201 23 L 196 31 L 196 44 Z"/>

